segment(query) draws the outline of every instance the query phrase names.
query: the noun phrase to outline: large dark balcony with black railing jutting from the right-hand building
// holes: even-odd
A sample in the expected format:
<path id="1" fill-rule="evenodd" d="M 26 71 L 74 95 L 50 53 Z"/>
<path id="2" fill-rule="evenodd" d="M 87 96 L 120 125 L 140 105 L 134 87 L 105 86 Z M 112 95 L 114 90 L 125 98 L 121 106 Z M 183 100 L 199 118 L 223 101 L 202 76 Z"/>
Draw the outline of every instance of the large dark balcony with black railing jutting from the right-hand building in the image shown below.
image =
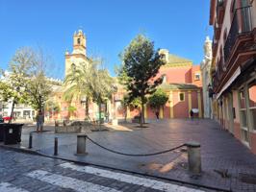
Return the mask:
<path id="1" fill-rule="evenodd" d="M 218 83 L 214 87 L 216 93 L 221 92 L 238 68 L 245 66 L 246 60 L 256 57 L 255 27 L 252 24 L 251 7 L 243 7 L 234 12 L 230 30 L 224 43 L 223 57 L 217 62 L 215 81 Z"/>

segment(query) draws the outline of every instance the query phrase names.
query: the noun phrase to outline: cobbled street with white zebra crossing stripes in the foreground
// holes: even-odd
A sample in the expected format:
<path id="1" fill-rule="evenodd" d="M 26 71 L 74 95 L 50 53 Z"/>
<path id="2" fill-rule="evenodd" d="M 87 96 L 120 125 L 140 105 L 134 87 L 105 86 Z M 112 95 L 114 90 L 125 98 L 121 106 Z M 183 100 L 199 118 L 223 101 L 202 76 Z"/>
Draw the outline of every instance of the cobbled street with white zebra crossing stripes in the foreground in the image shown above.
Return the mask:
<path id="1" fill-rule="evenodd" d="M 111 169 L 84 166 L 68 161 L 22 154 L 0 148 L 0 191 L 79 192 L 202 192 L 166 180 L 155 180 Z"/>

